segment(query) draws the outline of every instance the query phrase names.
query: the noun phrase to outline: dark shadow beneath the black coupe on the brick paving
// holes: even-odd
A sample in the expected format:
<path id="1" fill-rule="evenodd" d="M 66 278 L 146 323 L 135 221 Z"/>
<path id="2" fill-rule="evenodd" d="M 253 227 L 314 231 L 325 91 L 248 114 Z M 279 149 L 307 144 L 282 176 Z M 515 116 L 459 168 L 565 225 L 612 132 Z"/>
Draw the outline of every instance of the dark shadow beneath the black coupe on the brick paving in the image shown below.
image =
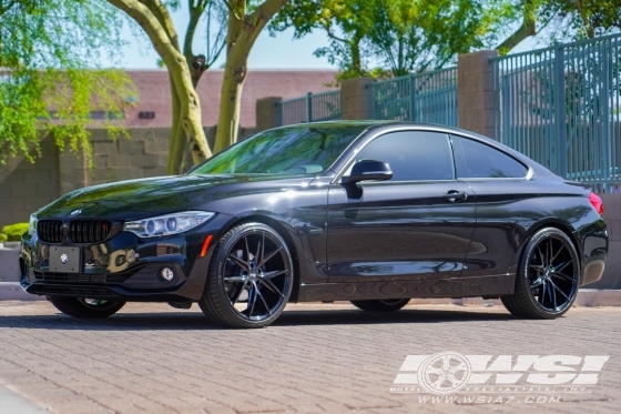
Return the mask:
<path id="1" fill-rule="evenodd" d="M 481 322 L 516 320 L 508 313 L 406 309 L 393 313 L 358 310 L 292 310 L 285 311 L 273 324 L 278 326 L 427 324 L 441 322 Z M 85 331 L 205 331 L 226 330 L 201 312 L 118 313 L 103 320 L 74 319 L 54 315 L 0 315 L 1 327 L 85 330 Z"/>

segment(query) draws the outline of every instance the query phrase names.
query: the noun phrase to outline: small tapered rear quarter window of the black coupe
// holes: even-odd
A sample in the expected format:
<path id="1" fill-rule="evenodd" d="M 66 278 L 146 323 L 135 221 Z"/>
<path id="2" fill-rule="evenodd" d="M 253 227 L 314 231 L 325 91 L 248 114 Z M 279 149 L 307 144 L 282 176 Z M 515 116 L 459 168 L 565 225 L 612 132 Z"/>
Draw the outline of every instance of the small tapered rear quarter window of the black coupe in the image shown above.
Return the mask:
<path id="1" fill-rule="evenodd" d="M 513 158 L 474 140 L 451 138 L 458 179 L 526 176 L 527 168 Z"/>

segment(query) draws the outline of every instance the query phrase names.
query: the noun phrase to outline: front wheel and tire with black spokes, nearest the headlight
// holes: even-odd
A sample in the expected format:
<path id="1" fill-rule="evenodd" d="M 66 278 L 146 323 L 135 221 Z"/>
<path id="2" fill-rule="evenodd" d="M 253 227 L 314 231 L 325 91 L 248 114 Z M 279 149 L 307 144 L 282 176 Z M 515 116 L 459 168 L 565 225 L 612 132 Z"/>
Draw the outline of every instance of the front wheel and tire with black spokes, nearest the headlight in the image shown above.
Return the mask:
<path id="1" fill-rule="evenodd" d="M 294 283 L 283 238 L 263 223 L 233 228 L 218 241 L 198 305 L 213 322 L 263 327 L 285 309 Z"/>

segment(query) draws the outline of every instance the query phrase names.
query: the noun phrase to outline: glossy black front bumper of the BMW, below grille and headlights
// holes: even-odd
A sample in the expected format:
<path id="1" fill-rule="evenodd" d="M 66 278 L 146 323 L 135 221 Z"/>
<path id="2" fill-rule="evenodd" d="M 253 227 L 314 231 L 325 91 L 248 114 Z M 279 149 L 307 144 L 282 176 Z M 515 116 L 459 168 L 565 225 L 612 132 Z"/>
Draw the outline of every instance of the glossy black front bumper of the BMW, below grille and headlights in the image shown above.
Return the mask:
<path id="1" fill-rule="evenodd" d="M 207 269 L 222 229 L 233 218 L 217 214 L 207 223 L 177 235 L 139 239 L 119 232 L 99 244 L 44 243 L 34 234 L 22 239 L 20 253 L 22 289 L 32 294 L 123 301 L 197 301 L 203 294 Z M 212 242 L 202 255 L 205 240 Z M 78 248 L 77 273 L 51 271 L 52 246 Z M 170 281 L 161 270 L 173 271 Z"/>

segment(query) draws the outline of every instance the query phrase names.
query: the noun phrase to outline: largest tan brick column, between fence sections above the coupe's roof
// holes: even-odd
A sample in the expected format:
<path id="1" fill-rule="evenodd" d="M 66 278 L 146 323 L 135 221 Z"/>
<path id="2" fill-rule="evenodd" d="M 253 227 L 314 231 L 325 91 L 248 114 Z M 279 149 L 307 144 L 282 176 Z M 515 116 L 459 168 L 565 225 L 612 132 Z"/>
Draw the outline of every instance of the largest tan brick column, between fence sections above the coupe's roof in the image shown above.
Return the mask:
<path id="1" fill-rule="evenodd" d="M 459 128 L 495 138 L 493 73 L 489 61 L 498 50 L 460 54 L 457 61 Z"/>

